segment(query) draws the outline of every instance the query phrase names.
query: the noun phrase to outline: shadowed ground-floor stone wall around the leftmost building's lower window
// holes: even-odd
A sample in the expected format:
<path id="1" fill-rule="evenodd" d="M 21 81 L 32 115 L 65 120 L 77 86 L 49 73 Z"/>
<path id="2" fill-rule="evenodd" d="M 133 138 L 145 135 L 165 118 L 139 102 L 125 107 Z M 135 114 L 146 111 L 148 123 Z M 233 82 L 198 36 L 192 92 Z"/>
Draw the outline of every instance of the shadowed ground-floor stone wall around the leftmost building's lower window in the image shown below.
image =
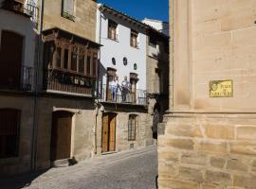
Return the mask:
<path id="1" fill-rule="evenodd" d="M 0 176 L 21 174 L 30 170 L 33 97 L 1 95 L 0 109 L 5 108 L 21 111 L 19 155 L 15 158 L 0 159 Z"/>

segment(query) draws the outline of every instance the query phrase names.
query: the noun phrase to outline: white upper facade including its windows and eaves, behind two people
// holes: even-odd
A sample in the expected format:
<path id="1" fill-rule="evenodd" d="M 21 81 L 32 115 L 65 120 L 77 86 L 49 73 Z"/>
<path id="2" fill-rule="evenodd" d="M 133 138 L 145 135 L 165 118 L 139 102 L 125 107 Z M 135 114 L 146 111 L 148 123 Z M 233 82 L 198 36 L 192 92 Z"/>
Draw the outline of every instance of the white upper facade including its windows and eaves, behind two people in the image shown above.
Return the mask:
<path id="1" fill-rule="evenodd" d="M 147 36 L 144 24 L 104 5 L 99 4 L 97 13 L 97 43 L 101 43 L 99 85 L 109 89 L 113 77 L 119 83 L 128 77 L 138 103 L 146 96 L 146 47 Z M 104 87 L 105 86 L 105 87 Z M 135 89 L 137 91 L 135 91 Z M 105 98 L 105 96 L 103 96 Z M 104 99 L 105 100 L 105 99 Z M 121 101 L 118 98 L 119 102 Z"/>

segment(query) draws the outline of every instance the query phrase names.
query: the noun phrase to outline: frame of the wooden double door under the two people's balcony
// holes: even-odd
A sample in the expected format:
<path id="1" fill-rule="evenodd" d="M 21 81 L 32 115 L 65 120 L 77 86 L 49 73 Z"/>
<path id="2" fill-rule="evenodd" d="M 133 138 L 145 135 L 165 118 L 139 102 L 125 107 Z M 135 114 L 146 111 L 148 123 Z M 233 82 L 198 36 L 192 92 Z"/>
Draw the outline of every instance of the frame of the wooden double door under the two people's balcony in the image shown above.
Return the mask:
<path id="1" fill-rule="evenodd" d="M 109 150 L 110 148 L 110 134 L 109 134 L 109 130 L 110 130 L 110 121 L 108 119 L 108 144 L 107 144 L 107 151 L 103 151 L 103 116 L 104 115 L 113 115 L 113 118 L 115 118 L 115 144 L 114 144 L 114 151 L 116 151 L 117 148 L 117 117 L 118 117 L 118 113 L 116 112 L 103 112 L 102 113 L 102 117 L 101 117 L 101 153 L 106 153 L 106 152 L 112 152 Z"/>

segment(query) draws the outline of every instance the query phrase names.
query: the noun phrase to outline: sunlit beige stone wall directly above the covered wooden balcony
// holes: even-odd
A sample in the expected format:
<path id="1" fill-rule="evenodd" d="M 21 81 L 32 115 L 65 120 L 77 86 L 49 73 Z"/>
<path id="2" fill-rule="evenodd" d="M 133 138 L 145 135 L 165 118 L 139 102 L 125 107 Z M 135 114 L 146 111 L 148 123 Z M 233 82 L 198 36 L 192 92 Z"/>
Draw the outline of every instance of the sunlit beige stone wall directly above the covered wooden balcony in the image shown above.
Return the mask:
<path id="1" fill-rule="evenodd" d="M 57 26 L 95 42 L 96 10 L 94 0 L 75 0 L 73 22 L 62 17 L 62 0 L 45 0 L 43 30 Z"/>

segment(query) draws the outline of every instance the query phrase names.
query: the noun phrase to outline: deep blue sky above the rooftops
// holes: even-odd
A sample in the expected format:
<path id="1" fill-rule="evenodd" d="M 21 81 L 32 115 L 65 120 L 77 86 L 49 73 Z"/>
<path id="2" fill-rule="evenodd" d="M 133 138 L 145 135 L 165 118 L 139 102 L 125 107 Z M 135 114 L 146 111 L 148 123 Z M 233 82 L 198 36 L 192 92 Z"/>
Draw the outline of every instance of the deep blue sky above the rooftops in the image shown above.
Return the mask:
<path id="1" fill-rule="evenodd" d="M 151 18 L 168 21 L 169 0 L 98 0 L 98 3 L 118 9 L 137 20 Z"/>

